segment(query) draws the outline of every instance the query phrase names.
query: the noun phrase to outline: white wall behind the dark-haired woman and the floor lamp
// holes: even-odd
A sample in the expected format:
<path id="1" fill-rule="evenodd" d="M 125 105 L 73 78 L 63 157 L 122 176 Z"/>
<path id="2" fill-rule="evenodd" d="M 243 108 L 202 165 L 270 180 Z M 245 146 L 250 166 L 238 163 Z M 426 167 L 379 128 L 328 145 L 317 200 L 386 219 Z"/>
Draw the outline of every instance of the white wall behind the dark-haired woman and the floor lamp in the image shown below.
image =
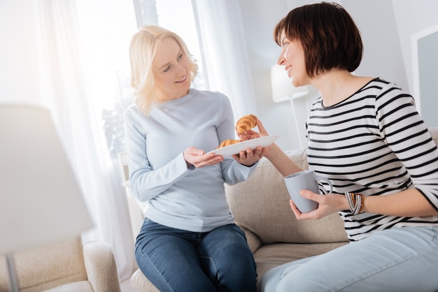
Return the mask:
<path id="1" fill-rule="evenodd" d="M 239 0 L 246 31 L 248 57 L 257 103 L 257 112 L 272 135 L 281 135 L 278 145 L 296 149 L 297 131 L 289 103 L 271 101 L 269 71 L 280 49 L 274 43 L 272 30 L 289 10 L 308 0 Z M 362 33 L 365 54 L 357 75 L 385 78 L 412 92 L 411 35 L 438 23 L 438 1 L 432 0 L 339 0 L 351 13 Z M 311 100 L 316 95 L 309 96 Z M 414 96 L 415 97 L 415 96 Z M 309 101 L 298 105 L 300 127 L 304 127 Z"/>

